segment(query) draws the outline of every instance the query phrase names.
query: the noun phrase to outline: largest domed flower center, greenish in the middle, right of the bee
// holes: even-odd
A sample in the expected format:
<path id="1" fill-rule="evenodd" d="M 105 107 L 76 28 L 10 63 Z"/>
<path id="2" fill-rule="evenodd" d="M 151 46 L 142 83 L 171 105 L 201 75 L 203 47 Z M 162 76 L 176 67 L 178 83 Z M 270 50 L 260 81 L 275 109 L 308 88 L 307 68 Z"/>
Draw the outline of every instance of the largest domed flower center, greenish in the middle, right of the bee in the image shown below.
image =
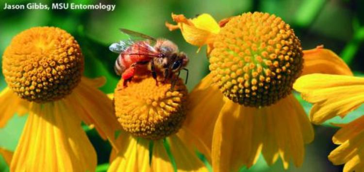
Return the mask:
<path id="1" fill-rule="evenodd" d="M 280 17 L 257 12 L 233 17 L 215 40 L 211 74 L 233 102 L 269 106 L 291 93 L 303 54 L 295 33 Z"/>

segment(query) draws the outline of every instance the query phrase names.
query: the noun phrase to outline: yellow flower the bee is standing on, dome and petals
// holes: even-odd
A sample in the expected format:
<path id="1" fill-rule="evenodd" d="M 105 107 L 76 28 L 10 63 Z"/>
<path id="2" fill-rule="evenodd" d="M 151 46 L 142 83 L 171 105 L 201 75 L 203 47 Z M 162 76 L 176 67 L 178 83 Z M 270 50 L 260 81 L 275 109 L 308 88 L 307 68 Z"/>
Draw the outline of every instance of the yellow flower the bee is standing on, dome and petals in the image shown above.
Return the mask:
<path id="1" fill-rule="evenodd" d="M 149 75 L 134 76 L 127 87 L 120 80 L 114 96 L 122 148 L 112 152 L 108 172 L 207 172 L 195 154 L 199 150 L 208 158 L 207 148 L 182 126 L 187 99 L 182 79 L 172 91 L 170 81 L 156 85 Z"/>

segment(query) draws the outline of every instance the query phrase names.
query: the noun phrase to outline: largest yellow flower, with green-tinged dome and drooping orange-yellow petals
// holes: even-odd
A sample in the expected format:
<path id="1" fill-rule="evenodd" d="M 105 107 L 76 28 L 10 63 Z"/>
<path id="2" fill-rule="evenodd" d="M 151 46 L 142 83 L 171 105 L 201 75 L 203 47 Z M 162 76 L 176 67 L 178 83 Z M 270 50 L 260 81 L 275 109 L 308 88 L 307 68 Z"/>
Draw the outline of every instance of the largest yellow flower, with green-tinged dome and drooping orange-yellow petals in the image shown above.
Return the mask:
<path id="1" fill-rule="evenodd" d="M 285 169 L 289 161 L 300 166 L 314 131 L 293 83 L 302 73 L 351 71 L 322 46 L 302 51 L 280 17 L 245 13 L 220 26 L 210 38 L 211 73 L 189 97 L 188 128 L 212 150 L 214 172 L 249 168 L 260 153 L 269 165 L 281 157 Z"/>

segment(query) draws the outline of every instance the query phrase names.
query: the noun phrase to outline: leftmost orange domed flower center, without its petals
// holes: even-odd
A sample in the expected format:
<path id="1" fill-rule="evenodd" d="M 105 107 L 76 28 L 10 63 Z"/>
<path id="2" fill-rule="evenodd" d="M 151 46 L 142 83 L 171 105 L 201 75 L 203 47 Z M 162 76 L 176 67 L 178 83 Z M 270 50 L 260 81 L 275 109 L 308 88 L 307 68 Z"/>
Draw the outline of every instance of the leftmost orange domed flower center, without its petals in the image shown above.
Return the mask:
<path id="1" fill-rule="evenodd" d="M 13 38 L 2 57 L 2 72 L 19 97 L 54 101 L 70 94 L 80 82 L 83 55 L 66 31 L 35 27 Z"/>

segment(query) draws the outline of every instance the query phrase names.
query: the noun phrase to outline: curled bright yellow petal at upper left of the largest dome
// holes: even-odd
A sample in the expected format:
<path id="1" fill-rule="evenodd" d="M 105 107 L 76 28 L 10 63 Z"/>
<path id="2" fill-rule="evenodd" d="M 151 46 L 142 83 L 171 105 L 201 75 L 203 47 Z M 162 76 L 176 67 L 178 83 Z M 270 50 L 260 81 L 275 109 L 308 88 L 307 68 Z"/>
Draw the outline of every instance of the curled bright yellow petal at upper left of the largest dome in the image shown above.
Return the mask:
<path id="1" fill-rule="evenodd" d="M 166 23 L 166 27 L 171 31 L 179 28 L 186 42 L 194 46 L 201 47 L 213 43 L 216 34 L 220 31 L 215 19 L 208 14 L 202 14 L 193 19 L 172 14 L 172 18 L 177 25 Z"/>

